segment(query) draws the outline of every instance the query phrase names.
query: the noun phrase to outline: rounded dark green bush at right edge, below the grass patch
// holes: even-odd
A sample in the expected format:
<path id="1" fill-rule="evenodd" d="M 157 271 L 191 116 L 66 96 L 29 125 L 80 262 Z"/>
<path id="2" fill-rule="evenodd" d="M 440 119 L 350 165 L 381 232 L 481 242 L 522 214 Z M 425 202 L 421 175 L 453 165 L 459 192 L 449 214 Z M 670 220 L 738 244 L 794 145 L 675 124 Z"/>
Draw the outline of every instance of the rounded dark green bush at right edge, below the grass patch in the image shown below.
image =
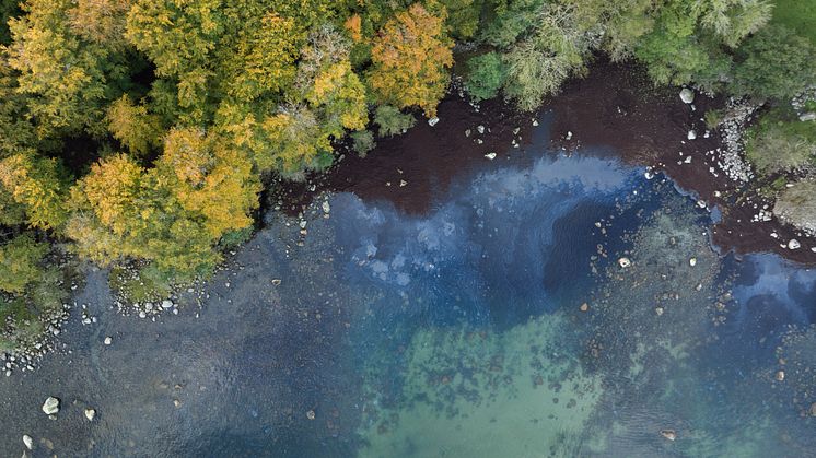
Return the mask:
<path id="1" fill-rule="evenodd" d="M 788 98 L 816 81 L 816 47 L 789 28 L 771 25 L 748 38 L 737 52 L 736 95 Z"/>

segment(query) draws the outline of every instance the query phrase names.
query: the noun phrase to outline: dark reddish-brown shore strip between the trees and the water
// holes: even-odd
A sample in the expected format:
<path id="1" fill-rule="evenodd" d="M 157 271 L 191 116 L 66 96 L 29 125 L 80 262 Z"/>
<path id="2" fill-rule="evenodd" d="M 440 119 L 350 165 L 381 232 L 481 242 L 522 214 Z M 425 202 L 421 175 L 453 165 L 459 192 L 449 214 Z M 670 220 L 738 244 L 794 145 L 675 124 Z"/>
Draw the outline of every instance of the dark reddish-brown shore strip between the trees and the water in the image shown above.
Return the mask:
<path id="1" fill-rule="evenodd" d="M 655 89 L 636 66 L 599 59 L 585 79 L 569 82 L 539 113 L 555 113 L 552 146 L 610 146 L 603 150 L 627 163 L 664 172 L 709 208 L 719 207 L 723 218 L 713 227 L 713 240 L 723 251 L 773 251 L 816 265 L 816 253 L 811 251 L 816 240 L 776 219 L 751 222 L 757 213 L 754 202 L 762 199 L 749 187 L 736 187 L 716 167 L 716 157 L 706 155 L 720 142 L 713 131 L 704 138 L 703 114 L 722 107 L 724 101 L 697 94 L 692 109 L 680 101 L 678 92 L 675 87 Z M 307 184 L 288 184 L 277 197 L 284 202 L 283 210 L 293 214 L 323 190 L 351 191 L 365 200 L 386 200 L 405 212 L 421 214 L 444 196 L 453 178 L 483 166 L 486 153 L 498 153 L 497 160 L 508 151 L 524 155 L 534 117 L 537 115 L 520 114 L 500 101 L 485 103 L 477 113 L 461 97 L 450 96 L 440 103 L 436 126 L 430 127 L 420 117 L 407 133 L 380 139 L 368 157 L 349 152 L 328 173 L 310 177 Z M 479 125 L 485 126 L 483 134 L 477 131 Z M 521 130 L 514 134 L 516 128 Z M 468 129 L 471 133 L 466 137 Z M 687 140 L 690 129 L 697 131 L 696 140 Z M 570 140 L 568 132 L 572 132 Z M 521 143 L 518 150 L 511 148 L 514 138 Z M 690 163 L 685 162 L 688 156 Z M 714 197 L 715 191 L 720 197 Z M 778 238 L 770 236 L 773 232 Z M 802 247 L 790 250 L 780 246 L 791 238 Z"/>

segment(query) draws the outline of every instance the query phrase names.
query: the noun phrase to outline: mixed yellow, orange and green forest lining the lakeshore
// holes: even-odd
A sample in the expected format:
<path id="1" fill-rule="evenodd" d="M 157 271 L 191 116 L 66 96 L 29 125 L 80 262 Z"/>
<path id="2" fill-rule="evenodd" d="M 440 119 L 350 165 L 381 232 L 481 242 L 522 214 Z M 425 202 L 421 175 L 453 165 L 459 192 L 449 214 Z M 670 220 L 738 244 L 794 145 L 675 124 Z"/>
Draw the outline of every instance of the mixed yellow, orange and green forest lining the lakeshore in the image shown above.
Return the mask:
<path id="1" fill-rule="evenodd" d="M 816 83 L 807 3 L 2 0 L 0 348 L 62 307 L 70 259 L 135 271 L 118 286 L 145 295 L 206 278 L 264 189 L 433 118 L 453 74 L 532 111 L 598 56 L 633 61 L 762 101 L 751 163 L 808 167 L 816 122 L 791 108 Z M 808 186 L 780 201 L 816 216 Z"/>

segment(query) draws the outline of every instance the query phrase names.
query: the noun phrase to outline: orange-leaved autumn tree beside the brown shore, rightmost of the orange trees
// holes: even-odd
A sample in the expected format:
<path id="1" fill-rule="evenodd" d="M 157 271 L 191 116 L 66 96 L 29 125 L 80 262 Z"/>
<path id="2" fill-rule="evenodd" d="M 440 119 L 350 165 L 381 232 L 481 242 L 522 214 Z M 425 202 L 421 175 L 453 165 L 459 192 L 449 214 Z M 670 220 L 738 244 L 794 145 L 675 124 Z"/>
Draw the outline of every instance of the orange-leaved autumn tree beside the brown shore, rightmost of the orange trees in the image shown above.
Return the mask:
<path id="1" fill-rule="evenodd" d="M 444 32 L 444 10 L 430 14 L 420 3 L 388 21 L 374 38 L 369 85 L 380 102 L 418 106 L 436 114 L 453 66 L 453 40 Z"/>

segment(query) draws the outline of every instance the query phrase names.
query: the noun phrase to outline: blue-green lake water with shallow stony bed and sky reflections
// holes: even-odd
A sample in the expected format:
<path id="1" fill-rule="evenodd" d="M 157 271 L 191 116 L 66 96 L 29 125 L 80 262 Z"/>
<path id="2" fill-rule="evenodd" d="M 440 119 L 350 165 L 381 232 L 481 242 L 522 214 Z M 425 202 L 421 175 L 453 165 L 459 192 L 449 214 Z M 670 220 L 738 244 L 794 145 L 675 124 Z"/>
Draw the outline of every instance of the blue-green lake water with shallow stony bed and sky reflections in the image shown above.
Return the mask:
<path id="1" fill-rule="evenodd" d="M 304 237 L 270 214 L 155 322 L 89 271 L 98 322 L 0 380 L 0 455 L 814 456 L 816 272 L 720 257 L 662 177 L 528 152 L 422 216 L 339 193 Z"/>

